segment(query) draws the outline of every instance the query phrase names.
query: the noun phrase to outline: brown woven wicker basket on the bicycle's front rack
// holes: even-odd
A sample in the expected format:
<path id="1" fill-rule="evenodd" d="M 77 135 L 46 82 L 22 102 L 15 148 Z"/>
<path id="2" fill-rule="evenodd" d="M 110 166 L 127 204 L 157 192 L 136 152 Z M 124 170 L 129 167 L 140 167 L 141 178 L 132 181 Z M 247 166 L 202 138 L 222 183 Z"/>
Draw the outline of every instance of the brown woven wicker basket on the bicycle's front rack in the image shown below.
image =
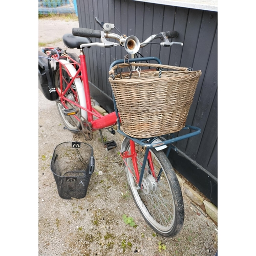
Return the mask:
<path id="1" fill-rule="evenodd" d="M 141 68 L 141 72 L 115 75 L 115 70 L 131 69 L 131 66 Z M 187 68 L 152 63 L 122 63 L 114 66 L 109 73 L 122 129 L 135 138 L 180 131 L 185 126 L 202 74 L 201 70 L 188 71 Z"/>

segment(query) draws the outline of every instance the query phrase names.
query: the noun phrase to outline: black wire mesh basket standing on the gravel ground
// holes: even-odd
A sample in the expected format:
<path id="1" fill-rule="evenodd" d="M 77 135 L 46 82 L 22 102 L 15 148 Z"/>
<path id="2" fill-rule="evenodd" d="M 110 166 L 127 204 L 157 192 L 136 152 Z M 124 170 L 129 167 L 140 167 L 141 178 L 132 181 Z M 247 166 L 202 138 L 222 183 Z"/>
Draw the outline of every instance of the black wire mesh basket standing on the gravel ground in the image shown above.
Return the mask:
<path id="1" fill-rule="evenodd" d="M 83 142 L 63 142 L 57 145 L 51 170 L 59 196 L 64 199 L 85 197 L 94 166 L 91 145 Z"/>

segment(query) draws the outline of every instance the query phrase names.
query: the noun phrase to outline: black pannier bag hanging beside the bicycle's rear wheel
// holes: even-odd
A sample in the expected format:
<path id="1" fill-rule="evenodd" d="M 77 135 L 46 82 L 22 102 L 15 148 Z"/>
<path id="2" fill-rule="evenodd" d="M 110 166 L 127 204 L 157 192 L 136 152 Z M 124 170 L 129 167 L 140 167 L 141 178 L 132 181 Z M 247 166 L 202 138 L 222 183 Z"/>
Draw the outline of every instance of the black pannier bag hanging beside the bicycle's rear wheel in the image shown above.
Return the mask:
<path id="1" fill-rule="evenodd" d="M 45 53 L 38 51 L 38 88 L 48 100 L 57 100 L 59 98 L 53 81 L 53 69 L 51 61 Z"/>

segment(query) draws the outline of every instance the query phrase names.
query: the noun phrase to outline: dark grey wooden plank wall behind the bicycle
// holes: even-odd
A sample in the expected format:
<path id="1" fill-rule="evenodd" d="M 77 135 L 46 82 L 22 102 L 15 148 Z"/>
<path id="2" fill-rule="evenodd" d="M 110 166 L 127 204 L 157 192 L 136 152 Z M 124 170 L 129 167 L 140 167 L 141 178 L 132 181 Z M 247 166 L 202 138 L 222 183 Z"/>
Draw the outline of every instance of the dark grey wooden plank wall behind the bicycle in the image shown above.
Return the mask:
<path id="1" fill-rule="evenodd" d="M 218 205 L 218 13 L 132 0 L 77 0 L 77 7 L 79 26 L 83 28 L 100 29 L 94 19 L 97 16 L 115 24 L 122 34 L 135 35 L 140 41 L 162 31 L 179 32 L 174 40 L 183 42 L 183 47 L 148 45 L 140 53 L 145 57 L 159 57 L 166 65 L 202 70 L 187 118 L 187 124 L 200 127 L 202 133 L 178 142 L 176 146 L 184 154 L 172 152 L 169 158 L 183 176 Z M 92 96 L 112 111 L 108 70 L 110 63 L 123 59 L 126 52 L 122 47 L 92 47 L 85 52 Z"/>

